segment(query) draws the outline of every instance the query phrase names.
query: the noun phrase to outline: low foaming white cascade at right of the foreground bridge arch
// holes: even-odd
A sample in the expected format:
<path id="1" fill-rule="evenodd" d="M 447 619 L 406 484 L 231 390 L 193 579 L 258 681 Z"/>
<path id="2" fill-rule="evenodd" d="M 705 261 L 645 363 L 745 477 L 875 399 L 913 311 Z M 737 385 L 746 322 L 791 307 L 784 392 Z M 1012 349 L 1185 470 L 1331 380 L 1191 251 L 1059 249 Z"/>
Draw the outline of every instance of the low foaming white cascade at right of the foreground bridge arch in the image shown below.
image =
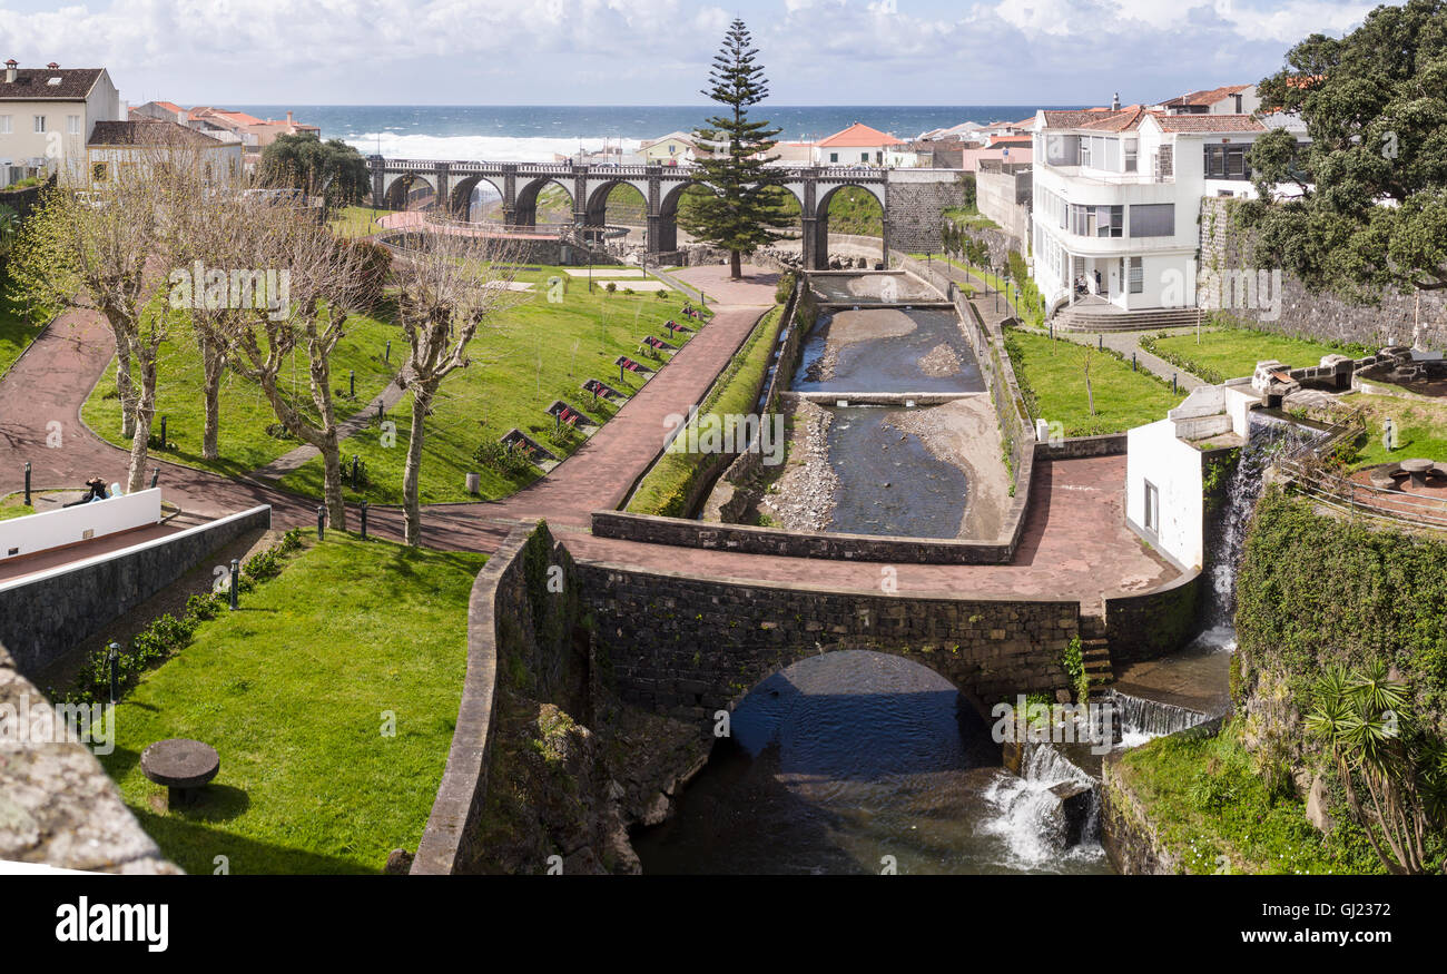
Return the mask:
<path id="1" fill-rule="evenodd" d="M 1053 744 L 1030 744 L 1022 776 L 1001 773 L 985 789 L 994 815 L 980 823 L 1004 839 L 1010 865 L 1039 868 L 1062 857 L 1098 857 L 1100 795 L 1095 780 Z"/>

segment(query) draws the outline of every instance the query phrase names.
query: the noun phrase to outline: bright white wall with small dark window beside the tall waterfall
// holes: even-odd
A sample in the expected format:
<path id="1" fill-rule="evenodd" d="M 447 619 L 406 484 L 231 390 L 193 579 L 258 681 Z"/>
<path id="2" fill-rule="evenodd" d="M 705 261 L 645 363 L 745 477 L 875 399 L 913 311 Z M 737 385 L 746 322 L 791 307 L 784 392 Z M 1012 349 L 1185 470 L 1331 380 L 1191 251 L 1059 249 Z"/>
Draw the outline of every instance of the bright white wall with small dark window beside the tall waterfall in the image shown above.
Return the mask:
<path id="1" fill-rule="evenodd" d="M 1160 496 L 1156 530 L 1146 528 L 1146 482 Z M 1185 567 L 1205 560 L 1205 498 L 1201 452 L 1176 439 L 1175 423 L 1160 420 L 1126 433 L 1126 522 Z"/>

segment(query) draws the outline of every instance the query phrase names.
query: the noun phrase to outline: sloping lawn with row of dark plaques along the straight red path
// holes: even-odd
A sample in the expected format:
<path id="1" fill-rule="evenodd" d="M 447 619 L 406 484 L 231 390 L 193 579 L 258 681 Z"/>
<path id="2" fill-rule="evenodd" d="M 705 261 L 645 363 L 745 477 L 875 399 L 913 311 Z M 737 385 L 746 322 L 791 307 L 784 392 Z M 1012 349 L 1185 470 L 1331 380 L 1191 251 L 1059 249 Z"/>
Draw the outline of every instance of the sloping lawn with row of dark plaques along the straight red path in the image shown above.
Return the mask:
<path id="1" fill-rule="evenodd" d="M 547 301 L 547 281 L 553 276 L 566 279 L 560 302 Z M 527 473 L 509 478 L 480 467 L 473 459 L 478 447 L 485 440 L 496 440 L 508 430 L 519 428 L 560 459 L 570 454 L 585 440 L 580 434 L 566 433 L 563 439 L 554 439 L 547 407 L 554 399 L 564 399 L 603 423 L 616 414 L 618 407 L 603 399 L 595 402 L 579 386 L 596 378 L 632 395 L 642 388 L 642 379 L 632 372 L 619 379 L 614 359 L 627 355 L 655 368 L 661 360 L 648 360 L 640 353 L 644 336 L 653 334 L 674 346 L 682 343 L 682 336 L 663 329 L 670 318 L 683 320 L 679 314 L 682 300 L 673 291 L 666 300 L 658 298 L 655 292 L 661 285 L 657 282 L 650 281 L 632 295 L 624 294 L 624 287 L 629 285 L 622 285 L 609 295 L 602 288 L 589 294 L 586 279 L 567 278 L 560 268 L 522 272 L 518 279 L 535 281 L 537 289 L 524 304 L 504 313 L 498 329 L 479 334 L 472 346 L 473 365 L 454 372 L 443 384 L 433 407 L 423 444 L 418 491 L 423 504 L 478 499 L 466 491 L 467 473 L 480 475 L 479 494 L 483 499 L 502 498 L 527 486 L 543 472 L 530 467 Z M 368 482 L 360 491 L 347 489 L 349 499 L 366 499 L 369 504 L 402 501 L 411 397 L 404 397 L 386 418 L 395 423 L 395 440 L 386 428 L 372 424 L 341 444 L 343 459 L 350 463 L 356 454 L 368 470 Z M 317 459 L 288 475 L 281 485 L 317 496 L 321 494 L 321 460 Z"/>

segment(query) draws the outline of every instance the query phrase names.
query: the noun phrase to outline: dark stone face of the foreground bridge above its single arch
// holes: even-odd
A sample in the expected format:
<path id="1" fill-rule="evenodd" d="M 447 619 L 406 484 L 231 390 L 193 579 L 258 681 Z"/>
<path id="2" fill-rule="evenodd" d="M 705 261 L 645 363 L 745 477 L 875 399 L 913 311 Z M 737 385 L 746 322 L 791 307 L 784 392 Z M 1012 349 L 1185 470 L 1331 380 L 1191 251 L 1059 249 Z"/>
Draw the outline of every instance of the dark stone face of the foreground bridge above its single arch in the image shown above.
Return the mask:
<path id="1" fill-rule="evenodd" d="M 985 702 L 1053 692 L 1069 686 L 1059 658 L 1079 632 L 1069 601 L 832 592 L 586 562 L 577 570 L 618 695 L 683 721 L 710 721 L 825 647 L 907 656 Z"/>

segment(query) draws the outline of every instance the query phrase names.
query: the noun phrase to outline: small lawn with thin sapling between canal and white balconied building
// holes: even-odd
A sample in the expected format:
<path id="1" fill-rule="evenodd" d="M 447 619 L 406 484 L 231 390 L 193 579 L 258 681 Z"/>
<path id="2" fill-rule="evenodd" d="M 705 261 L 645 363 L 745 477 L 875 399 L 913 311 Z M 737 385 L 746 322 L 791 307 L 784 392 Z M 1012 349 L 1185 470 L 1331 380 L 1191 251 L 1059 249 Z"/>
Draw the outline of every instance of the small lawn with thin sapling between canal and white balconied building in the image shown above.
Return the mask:
<path id="1" fill-rule="evenodd" d="M 1184 391 L 1172 392 L 1169 384 L 1145 369 L 1132 372 L 1129 362 L 1108 350 L 1097 352 L 1075 342 L 1051 340 L 1019 329 L 1006 331 L 1006 349 L 1030 414 L 1064 424 L 1065 436 L 1121 433 L 1155 423 L 1185 398 Z M 1085 392 L 1087 352 L 1091 357 L 1094 415 Z"/>

